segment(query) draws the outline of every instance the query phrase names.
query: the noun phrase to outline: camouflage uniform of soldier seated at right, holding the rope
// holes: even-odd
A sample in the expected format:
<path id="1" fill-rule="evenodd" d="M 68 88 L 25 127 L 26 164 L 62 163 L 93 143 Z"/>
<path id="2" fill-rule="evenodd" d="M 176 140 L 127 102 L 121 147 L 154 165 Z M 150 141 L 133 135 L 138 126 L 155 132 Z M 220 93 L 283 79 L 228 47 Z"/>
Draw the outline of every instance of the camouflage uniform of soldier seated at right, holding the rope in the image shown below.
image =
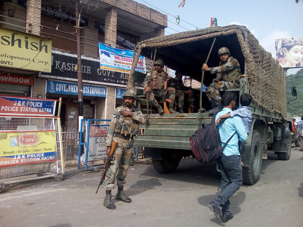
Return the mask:
<path id="1" fill-rule="evenodd" d="M 205 89 L 206 96 L 211 102 L 211 105 L 215 106 L 221 103 L 219 92 L 239 87 L 236 80 L 239 79 L 241 74 L 240 64 L 235 58 L 230 57 L 225 64 L 220 61 L 219 66 L 210 67 L 210 74 L 217 74 L 216 79 L 219 80 L 218 82 L 211 83 L 209 87 Z"/>

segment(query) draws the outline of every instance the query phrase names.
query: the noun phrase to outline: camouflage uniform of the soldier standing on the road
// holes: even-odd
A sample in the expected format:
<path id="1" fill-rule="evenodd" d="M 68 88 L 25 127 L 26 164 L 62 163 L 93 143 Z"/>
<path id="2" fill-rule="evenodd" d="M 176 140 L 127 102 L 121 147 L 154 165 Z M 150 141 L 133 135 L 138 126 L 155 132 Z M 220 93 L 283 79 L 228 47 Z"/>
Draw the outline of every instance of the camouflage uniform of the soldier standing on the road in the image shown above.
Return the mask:
<path id="1" fill-rule="evenodd" d="M 134 117 L 123 117 L 121 115 L 122 110 L 133 112 Z M 117 145 L 115 149 L 115 160 L 107 170 L 104 180 L 105 190 L 112 190 L 114 188 L 115 178 L 117 178 L 118 186 L 125 184 L 127 170 L 133 159 L 134 136 L 138 133 L 139 124 L 145 124 L 145 117 L 141 110 L 135 105 L 132 105 L 131 110 L 125 104 L 115 109 L 105 145 L 107 147 L 111 146 L 113 138 L 117 140 Z"/>

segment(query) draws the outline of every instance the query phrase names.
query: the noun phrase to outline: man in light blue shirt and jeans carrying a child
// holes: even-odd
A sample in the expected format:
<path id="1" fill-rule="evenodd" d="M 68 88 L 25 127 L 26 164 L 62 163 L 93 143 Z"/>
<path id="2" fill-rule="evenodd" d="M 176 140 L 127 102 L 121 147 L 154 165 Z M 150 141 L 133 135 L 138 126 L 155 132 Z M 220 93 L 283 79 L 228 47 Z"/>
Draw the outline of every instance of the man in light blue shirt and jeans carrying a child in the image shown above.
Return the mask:
<path id="1" fill-rule="evenodd" d="M 223 94 L 222 104 L 224 108 L 217 114 L 215 120 L 226 113 L 232 112 L 236 106 L 236 98 L 236 95 L 232 92 L 225 92 Z M 218 125 L 218 130 L 222 147 L 236 132 L 224 148 L 222 157 L 217 160 L 218 169 L 221 172 L 221 194 L 208 204 L 208 208 L 214 212 L 215 216 L 221 222 L 226 223 L 234 217 L 229 207 L 229 198 L 236 193 L 243 182 L 238 141 L 245 141 L 247 139 L 247 132 L 239 116 L 226 119 L 225 122 Z"/>

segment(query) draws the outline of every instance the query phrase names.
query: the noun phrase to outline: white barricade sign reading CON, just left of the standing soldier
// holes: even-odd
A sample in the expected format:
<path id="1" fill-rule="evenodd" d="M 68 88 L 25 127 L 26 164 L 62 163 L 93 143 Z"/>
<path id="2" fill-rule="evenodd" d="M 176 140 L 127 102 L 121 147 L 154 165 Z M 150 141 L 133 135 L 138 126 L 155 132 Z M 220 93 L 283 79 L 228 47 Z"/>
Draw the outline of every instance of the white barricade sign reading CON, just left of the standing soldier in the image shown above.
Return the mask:
<path id="1" fill-rule="evenodd" d="M 108 130 L 109 125 L 90 125 L 88 162 L 107 158 L 105 142 Z"/>

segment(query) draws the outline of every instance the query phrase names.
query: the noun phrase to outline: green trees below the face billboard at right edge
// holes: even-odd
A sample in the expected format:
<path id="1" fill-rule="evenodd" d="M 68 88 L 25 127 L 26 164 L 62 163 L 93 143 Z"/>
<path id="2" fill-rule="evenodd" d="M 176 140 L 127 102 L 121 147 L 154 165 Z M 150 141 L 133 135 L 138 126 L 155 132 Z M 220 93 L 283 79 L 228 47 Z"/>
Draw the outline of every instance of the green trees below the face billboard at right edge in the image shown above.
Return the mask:
<path id="1" fill-rule="evenodd" d="M 303 116 L 303 68 L 296 74 L 289 75 L 286 78 L 287 82 L 287 100 L 292 100 L 296 97 L 291 95 L 291 87 L 296 86 L 298 97 L 294 101 L 290 101 L 288 104 L 288 112 L 292 116 Z"/>

